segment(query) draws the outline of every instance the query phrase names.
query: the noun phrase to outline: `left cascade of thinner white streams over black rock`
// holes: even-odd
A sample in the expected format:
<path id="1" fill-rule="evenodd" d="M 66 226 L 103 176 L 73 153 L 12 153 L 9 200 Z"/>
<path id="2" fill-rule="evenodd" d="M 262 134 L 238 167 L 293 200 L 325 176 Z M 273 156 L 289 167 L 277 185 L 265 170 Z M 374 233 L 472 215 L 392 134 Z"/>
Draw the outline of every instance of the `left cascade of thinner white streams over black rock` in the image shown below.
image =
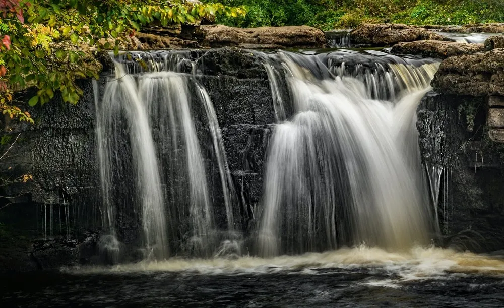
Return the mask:
<path id="1" fill-rule="evenodd" d="M 213 217 L 208 158 L 202 154 L 188 88 L 191 77 L 170 72 L 177 70 L 179 59 L 169 55 L 122 55 L 115 61 L 115 78 L 106 84 L 103 98 L 95 98 L 102 217 L 108 230 L 102 236 L 101 248 L 112 255 L 112 261 L 118 259 L 121 245 L 115 230 L 119 220 L 117 198 L 120 200 L 121 191 L 128 189 L 135 190 L 128 191 L 128 196 L 140 204 L 142 214 L 138 219 L 142 222 L 146 257 L 167 258 L 172 254 L 170 247 L 209 256 L 222 239 L 218 238 Z M 197 82 L 193 87 L 208 120 L 226 207 L 227 232 L 232 233 L 236 197 L 219 124 L 205 89 Z M 124 135 L 129 136 L 129 143 L 124 141 Z M 136 173 L 129 170 L 131 166 Z M 117 184 L 128 176 L 136 178 L 134 187 Z M 132 206 L 128 202 L 122 205 Z"/>

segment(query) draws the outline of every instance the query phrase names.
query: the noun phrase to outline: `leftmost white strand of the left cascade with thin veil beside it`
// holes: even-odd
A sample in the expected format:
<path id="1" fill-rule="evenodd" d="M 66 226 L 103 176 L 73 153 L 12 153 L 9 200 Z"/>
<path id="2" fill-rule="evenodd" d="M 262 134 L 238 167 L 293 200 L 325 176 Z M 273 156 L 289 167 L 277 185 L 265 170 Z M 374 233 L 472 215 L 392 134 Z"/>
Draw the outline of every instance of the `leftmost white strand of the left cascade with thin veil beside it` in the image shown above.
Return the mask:
<path id="1" fill-rule="evenodd" d="M 98 151 L 104 196 L 102 212 L 105 215 L 105 225 L 113 226 L 115 223 L 115 209 L 108 194 L 114 186 L 114 181 L 122 180 L 120 174 L 113 176 L 116 170 L 111 168 L 114 166 L 114 156 L 119 155 L 116 138 L 120 136 L 122 123 L 118 115 L 124 114 L 132 148 L 132 165 L 136 169 L 136 187 L 132 189 L 137 190 L 138 202 L 141 204 L 146 254 L 162 259 L 168 257 L 165 201 L 161 192 L 147 110 L 139 96 L 135 80 L 116 63 L 115 79 L 107 83 L 97 108 Z"/>

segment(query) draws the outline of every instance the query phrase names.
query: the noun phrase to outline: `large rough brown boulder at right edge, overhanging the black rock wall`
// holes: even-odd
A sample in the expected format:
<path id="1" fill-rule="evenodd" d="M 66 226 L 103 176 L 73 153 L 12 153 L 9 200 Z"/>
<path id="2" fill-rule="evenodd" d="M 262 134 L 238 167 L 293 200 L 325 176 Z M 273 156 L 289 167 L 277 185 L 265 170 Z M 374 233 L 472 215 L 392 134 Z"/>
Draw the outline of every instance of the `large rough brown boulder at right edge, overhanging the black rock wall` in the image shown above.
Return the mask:
<path id="1" fill-rule="evenodd" d="M 431 84 L 444 94 L 504 95 L 504 49 L 449 57 Z"/>

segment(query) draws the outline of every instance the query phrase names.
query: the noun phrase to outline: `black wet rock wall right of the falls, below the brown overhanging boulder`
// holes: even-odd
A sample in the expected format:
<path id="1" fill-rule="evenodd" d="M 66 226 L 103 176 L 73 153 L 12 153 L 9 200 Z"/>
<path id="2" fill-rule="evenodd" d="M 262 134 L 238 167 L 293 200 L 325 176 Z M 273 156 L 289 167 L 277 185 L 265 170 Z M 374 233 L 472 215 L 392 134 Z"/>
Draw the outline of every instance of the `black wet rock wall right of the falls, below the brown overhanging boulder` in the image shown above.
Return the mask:
<path id="1" fill-rule="evenodd" d="M 476 252 L 504 248 L 504 200 L 498 193 L 504 147 L 487 133 L 486 113 L 484 97 L 432 92 L 418 108 L 423 161 L 444 168 L 437 206 L 443 244 Z"/>

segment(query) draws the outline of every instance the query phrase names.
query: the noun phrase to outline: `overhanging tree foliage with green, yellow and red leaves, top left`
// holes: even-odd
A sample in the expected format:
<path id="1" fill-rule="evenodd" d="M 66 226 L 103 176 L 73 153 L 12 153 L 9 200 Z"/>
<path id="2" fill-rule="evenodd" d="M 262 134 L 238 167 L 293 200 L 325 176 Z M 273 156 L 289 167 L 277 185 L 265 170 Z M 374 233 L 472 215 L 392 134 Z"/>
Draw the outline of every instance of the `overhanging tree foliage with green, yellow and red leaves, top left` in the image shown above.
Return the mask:
<path id="1" fill-rule="evenodd" d="M 77 103 L 79 78 L 98 78 L 101 65 L 83 50 L 96 45 L 119 51 L 135 31 L 198 23 L 216 15 L 244 16 L 243 7 L 182 0 L 0 0 L 0 110 L 33 120 L 13 102 L 13 92 L 35 86 L 29 105 L 44 104 L 60 91 Z M 107 39 L 103 45 L 98 40 Z M 112 39 L 112 40 L 110 40 Z"/>

